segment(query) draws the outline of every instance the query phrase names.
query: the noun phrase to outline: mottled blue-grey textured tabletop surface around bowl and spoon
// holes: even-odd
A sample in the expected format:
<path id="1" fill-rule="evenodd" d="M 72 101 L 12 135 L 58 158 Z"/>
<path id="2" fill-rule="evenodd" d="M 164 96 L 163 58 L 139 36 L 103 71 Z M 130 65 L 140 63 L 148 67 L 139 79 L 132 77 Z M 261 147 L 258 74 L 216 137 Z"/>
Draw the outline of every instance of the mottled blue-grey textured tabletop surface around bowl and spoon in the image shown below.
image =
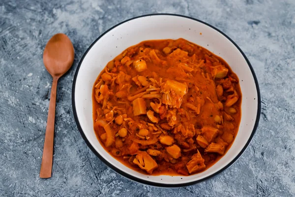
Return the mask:
<path id="1" fill-rule="evenodd" d="M 262 116 L 232 167 L 198 185 L 143 186 L 110 170 L 74 122 L 73 75 L 83 53 L 117 23 L 148 13 L 201 19 L 227 33 L 256 71 Z M 51 76 L 42 53 L 55 33 L 76 51 L 59 80 L 53 176 L 39 169 Z M 295 196 L 295 0 L 0 0 L 0 196 Z"/>

